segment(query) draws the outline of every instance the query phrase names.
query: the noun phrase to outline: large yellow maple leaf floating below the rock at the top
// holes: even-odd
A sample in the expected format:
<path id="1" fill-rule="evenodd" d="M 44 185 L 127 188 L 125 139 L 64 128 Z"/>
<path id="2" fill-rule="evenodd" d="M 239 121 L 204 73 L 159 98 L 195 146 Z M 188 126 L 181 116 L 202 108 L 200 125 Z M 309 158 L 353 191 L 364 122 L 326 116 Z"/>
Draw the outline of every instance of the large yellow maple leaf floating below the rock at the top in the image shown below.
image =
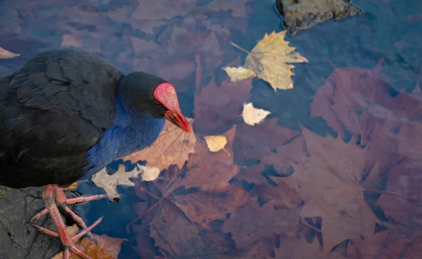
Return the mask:
<path id="1" fill-rule="evenodd" d="M 230 42 L 236 48 L 248 53 L 245 64 L 239 68 L 223 68 L 229 74 L 233 82 L 244 80 L 252 75 L 256 75 L 267 81 L 271 87 L 276 89 L 292 89 L 291 79 L 294 65 L 288 63 L 309 62 L 295 51 L 295 47 L 289 46 L 284 40 L 286 30 L 283 32 L 272 32 L 265 34 L 264 38 L 258 42 L 252 51 L 247 51 L 241 46 Z"/>

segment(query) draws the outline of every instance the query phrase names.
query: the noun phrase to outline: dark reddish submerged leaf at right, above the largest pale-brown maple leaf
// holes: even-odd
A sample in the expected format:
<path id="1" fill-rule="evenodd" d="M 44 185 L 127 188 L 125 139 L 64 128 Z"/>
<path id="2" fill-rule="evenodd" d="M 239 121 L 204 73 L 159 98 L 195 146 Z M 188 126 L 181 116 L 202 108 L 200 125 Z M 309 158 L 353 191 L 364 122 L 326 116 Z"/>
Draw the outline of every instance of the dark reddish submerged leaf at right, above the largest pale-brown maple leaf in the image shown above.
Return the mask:
<path id="1" fill-rule="evenodd" d="M 397 141 L 390 127 L 403 121 L 400 110 L 407 110 L 405 100 L 412 97 L 390 96 L 382 64 L 383 59 L 370 70 L 334 68 L 316 91 L 311 117 L 321 116 L 343 138 L 351 132 L 360 144 L 368 145 L 367 168 L 378 162 L 383 173 L 397 162 Z"/>

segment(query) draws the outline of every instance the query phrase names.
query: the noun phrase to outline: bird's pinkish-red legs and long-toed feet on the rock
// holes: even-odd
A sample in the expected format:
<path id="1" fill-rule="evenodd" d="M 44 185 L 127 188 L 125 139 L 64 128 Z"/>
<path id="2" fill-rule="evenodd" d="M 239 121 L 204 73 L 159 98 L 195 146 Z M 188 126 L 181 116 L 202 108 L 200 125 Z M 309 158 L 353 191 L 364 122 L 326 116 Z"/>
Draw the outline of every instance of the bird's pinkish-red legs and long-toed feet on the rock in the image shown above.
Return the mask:
<path id="1" fill-rule="evenodd" d="M 84 234 L 87 234 L 89 239 L 96 241 L 94 239 L 94 236 L 91 233 L 91 229 L 93 229 L 96 225 L 98 225 L 101 222 L 101 220 L 103 220 L 103 217 L 100 217 L 98 220 L 96 220 L 96 222 L 94 222 L 94 224 L 87 227 L 84 220 L 82 220 L 81 217 L 79 217 L 72 210 L 70 210 L 70 208 L 68 207 L 68 204 L 80 203 L 84 201 L 94 201 L 94 200 L 98 200 L 104 197 L 106 197 L 106 194 L 68 199 L 66 198 L 63 192 L 63 189 L 61 189 L 57 185 L 49 184 L 44 188 L 44 191 L 42 193 L 42 199 L 46 205 L 46 208 L 44 208 L 44 210 L 41 210 L 39 213 L 37 213 L 37 215 L 32 217 L 32 219 L 30 220 L 30 223 L 32 224 L 34 220 L 38 220 L 42 216 L 49 213 L 51 216 L 51 219 L 53 220 L 54 226 L 56 226 L 57 232 L 53 232 L 39 225 L 32 224 L 32 226 L 45 234 L 49 234 L 50 236 L 55 236 L 55 237 L 60 238 L 64 246 L 63 258 L 65 259 L 70 258 L 70 251 L 72 251 L 73 253 L 79 255 L 81 258 L 89 259 L 90 257 L 84 254 L 82 251 L 80 251 L 79 248 L 75 247 L 73 243 L 77 241 L 79 238 L 81 238 L 82 236 L 84 236 Z M 75 220 L 77 225 L 79 225 L 79 227 L 82 227 L 84 230 L 75 234 L 74 236 L 70 236 L 57 206 L 60 206 L 60 208 L 63 208 L 63 210 L 65 210 L 65 212 L 68 213 L 73 218 L 73 220 Z"/>

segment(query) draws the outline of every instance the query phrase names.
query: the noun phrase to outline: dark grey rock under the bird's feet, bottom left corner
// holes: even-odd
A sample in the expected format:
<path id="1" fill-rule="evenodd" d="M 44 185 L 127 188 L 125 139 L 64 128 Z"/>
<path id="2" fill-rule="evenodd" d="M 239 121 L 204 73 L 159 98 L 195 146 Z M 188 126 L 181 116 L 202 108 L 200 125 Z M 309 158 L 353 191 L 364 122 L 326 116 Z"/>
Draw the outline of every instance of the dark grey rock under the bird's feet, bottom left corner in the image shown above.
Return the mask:
<path id="1" fill-rule="evenodd" d="M 59 239 L 28 224 L 44 208 L 42 190 L 43 187 L 20 190 L 0 187 L 0 259 L 47 259 L 62 249 Z M 37 223 L 55 230 L 49 215 Z"/>

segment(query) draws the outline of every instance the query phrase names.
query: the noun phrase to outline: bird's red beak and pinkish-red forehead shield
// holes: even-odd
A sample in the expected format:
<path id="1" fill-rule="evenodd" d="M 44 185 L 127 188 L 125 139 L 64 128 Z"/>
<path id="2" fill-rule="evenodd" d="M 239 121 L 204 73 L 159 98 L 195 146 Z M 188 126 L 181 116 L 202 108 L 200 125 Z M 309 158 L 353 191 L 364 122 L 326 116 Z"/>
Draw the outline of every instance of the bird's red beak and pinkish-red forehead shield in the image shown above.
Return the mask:
<path id="1" fill-rule="evenodd" d="M 177 101 L 176 90 L 174 89 L 172 84 L 160 84 L 154 91 L 154 97 L 163 106 L 165 106 L 165 108 L 167 108 L 167 112 L 165 113 L 164 117 L 166 120 L 169 120 L 185 132 L 191 132 L 188 120 L 186 120 L 186 117 L 183 115 L 183 113 L 181 113 L 181 110 L 179 108 L 179 101 Z"/>

